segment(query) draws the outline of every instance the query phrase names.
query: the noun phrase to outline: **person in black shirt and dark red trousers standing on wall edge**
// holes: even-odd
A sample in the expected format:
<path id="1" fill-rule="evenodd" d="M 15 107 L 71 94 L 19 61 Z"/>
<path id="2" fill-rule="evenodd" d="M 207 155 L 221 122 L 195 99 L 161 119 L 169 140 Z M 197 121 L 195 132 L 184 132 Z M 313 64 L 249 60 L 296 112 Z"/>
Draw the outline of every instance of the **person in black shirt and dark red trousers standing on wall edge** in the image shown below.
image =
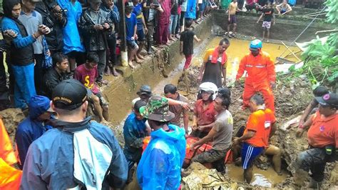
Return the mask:
<path id="1" fill-rule="evenodd" d="M 191 29 L 193 21 L 185 20 L 185 31 L 180 34 L 180 54 L 185 56 L 185 64 L 183 71 L 189 68 L 191 60 L 193 59 L 194 54 L 194 39 L 195 41 L 200 41 L 195 35 L 195 32 Z"/>

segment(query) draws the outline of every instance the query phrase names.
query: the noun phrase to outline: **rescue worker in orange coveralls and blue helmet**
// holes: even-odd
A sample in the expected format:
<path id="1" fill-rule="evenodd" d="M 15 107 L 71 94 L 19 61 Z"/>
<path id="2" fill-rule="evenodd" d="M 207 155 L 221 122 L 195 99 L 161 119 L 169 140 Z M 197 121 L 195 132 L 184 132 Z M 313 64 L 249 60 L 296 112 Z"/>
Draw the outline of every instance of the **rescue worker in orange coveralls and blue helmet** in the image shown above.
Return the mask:
<path id="1" fill-rule="evenodd" d="M 274 96 L 272 88 L 275 88 L 276 73 L 275 64 L 270 55 L 262 51 L 262 41 L 255 39 L 250 43 L 250 54 L 247 54 L 240 61 L 240 68 L 237 71 L 235 85 L 240 77 L 247 71 L 243 91 L 242 109 L 249 107 L 250 97 L 256 92 L 261 92 L 265 106 L 275 111 Z"/>

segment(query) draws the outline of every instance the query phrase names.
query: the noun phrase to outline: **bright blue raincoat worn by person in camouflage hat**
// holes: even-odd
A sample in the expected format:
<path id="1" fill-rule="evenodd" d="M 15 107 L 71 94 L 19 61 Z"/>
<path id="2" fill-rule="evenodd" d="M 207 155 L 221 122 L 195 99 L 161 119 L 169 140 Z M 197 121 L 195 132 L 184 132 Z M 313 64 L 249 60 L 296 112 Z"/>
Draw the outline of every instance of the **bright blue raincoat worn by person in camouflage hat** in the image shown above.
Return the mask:
<path id="1" fill-rule="evenodd" d="M 150 142 L 138 164 L 137 177 L 141 189 L 178 189 L 180 170 L 185 158 L 185 130 L 169 125 L 172 131 L 151 132 Z"/>

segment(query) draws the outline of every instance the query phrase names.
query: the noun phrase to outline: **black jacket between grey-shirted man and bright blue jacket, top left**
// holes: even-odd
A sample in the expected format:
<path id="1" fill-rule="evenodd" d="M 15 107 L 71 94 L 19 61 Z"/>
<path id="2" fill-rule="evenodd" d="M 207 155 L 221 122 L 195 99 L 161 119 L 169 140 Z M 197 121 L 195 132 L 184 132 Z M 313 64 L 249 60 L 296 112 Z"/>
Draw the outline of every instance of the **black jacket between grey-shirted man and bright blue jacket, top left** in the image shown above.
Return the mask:
<path id="1" fill-rule="evenodd" d="M 57 19 L 54 16 L 53 7 L 56 5 L 58 4 L 54 0 L 44 0 L 43 2 L 37 2 L 35 8 L 41 14 L 43 24 L 51 29 L 51 33 L 45 35 L 48 48 L 51 51 L 61 51 L 63 49 L 62 29 L 67 24 L 67 17 L 64 11 L 61 19 Z"/>

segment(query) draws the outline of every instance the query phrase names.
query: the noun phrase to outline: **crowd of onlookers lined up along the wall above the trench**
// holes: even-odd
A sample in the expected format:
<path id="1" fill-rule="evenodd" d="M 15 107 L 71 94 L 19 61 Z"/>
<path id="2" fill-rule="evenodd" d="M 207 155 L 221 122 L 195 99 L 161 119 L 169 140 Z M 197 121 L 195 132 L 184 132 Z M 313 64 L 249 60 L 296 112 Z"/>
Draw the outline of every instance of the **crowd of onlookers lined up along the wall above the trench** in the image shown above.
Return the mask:
<path id="1" fill-rule="evenodd" d="M 286 0 L 276 6 L 276 9 L 272 8 L 270 2 L 259 1 L 255 4 L 255 9 L 262 11 L 260 19 L 264 17 L 263 39 L 266 33 L 267 40 L 270 26 L 275 24 L 274 10 L 278 14 L 287 14 L 292 10 Z M 229 37 L 236 36 L 236 13 L 243 9 L 239 3 L 233 0 L 229 4 Z M 91 104 L 103 121 L 101 112 L 106 108 L 98 106 L 103 104 L 104 99 L 101 94 L 97 94 L 96 85 L 108 84 L 103 79 L 104 75 L 118 76 L 116 66 L 121 62 L 118 56 L 122 7 L 118 7 L 113 0 L 89 0 L 81 3 L 76 0 L 16 0 L 4 1 L 3 8 L 4 12 L 0 13 L 4 36 L 1 40 L 1 55 L 4 56 L 4 52 L 7 55 L 9 89 L 3 61 L 1 100 L 5 101 L 1 101 L 1 105 L 10 105 L 6 104 L 10 100 L 16 108 L 27 109 L 32 96 L 39 94 L 51 98 L 51 90 L 58 82 L 73 78 L 79 74 L 78 70 L 82 70 L 82 83 L 93 91 Z M 199 24 L 209 16 L 210 10 L 219 9 L 220 2 L 133 0 L 126 1 L 124 8 L 128 65 L 132 69 L 135 67 L 133 61 L 140 63 L 145 59 L 143 49 L 148 54 L 153 54 L 154 45 L 163 47 L 170 40 L 177 39 L 181 41 L 180 52 L 185 55 L 184 68 L 187 69 L 193 58 L 193 39 L 200 41 L 195 36 L 192 25 L 194 22 Z M 93 66 L 97 75 L 90 71 L 88 64 L 81 66 L 88 61 L 88 54 L 91 57 L 95 56 L 93 54 L 98 56 L 97 64 Z M 91 80 L 88 82 L 86 77 Z M 81 80 L 79 77 L 76 79 Z M 217 86 L 220 86 L 219 81 Z"/>

